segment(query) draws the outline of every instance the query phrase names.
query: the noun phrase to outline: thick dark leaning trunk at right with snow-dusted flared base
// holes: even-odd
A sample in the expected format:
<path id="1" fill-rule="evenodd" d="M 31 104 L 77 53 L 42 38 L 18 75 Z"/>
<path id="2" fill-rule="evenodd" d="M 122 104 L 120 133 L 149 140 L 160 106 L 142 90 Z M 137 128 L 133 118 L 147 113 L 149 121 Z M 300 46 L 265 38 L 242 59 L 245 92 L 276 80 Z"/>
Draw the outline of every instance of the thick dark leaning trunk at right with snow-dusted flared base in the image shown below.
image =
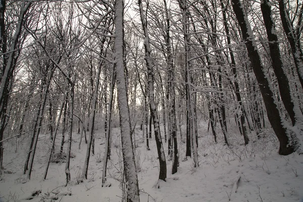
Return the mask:
<path id="1" fill-rule="evenodd" d="M 268 76 L 264 72 L 264 67 L 262 64 L 262 59 L 258 52 L 257 44 L 253 40 L 255 37 L 252 34 L 246 13 L 239 0 L 232 0 L 232 3 L 233 10 L 236 14 L 243 39 L 245 41 L 252 70 L 254 70 L 260 87 L 268 119 L 280 142 L 279 154 L 289 155 L 293 153 L 297 148 L 297 140 L 295 134 L 285 127 L 287 123 L 283 122 L 281 119 L 276 100 L 274 99 L 275 96 L 271 90 L 271 84 L 269 83 Z"/>

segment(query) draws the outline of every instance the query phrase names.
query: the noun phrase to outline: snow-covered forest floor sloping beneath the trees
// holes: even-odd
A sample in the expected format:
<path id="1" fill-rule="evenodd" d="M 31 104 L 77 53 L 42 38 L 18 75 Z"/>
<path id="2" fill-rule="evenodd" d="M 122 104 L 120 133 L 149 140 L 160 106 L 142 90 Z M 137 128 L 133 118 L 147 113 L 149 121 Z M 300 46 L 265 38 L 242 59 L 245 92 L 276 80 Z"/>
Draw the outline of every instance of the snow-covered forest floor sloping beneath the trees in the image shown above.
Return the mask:
<path id="1" fill-rule="evenodd" d="M 184 127 L 184 126 L 183 126 Z M 185 142 L 179 140 L 178 172 L 171 174 L 172 161 L 167 156 L 167 143 L 163 143 L 167 160 L 167 181 L 157 184 L 159 161 L 155 138 L 149 140 L 150 150 L 146 150 L 142 131 L 135 129 L 135 159 L 138 171 L 140 201 L 263 201 L 284 202 L 303 199 L 303 155 L 280 156 L 278 142 L 270 130 L 265 130 L 264 138 L 254 139 L 247 146 L 242 145 L 242 137 L 230 129 L 229 140 L 234 145 L 223 145 L 219 133 L 218 143 L 207 132 L 207 123 L 199 124 L 198 160 L 199 167 L 193 167 L 193 160 L 185 158 Z M 185 128 L 183 128 L 185 131 Z M 219 132 L 219 131 L 218 131 Z M 236 134 L 236 132 L 234 132 Z M 86 144 L 81 144 L 79 134 L 73 134 L 70 170 L 72 182 L 65 186 L 65 163 L 52 163 L 46 180 L 42 180 L 47 152 L 50 146 L 49 135 L 40 135 L 31 180 L 23 182 L 23 167 L 28 145 L 20 142 L 15 153 L 15 141 L 5 144 L 5 174 L 0 181 L 0 201 L 28 201 L 34 190 L 41 193 L 30 201 L 122 201 L 122 152 L 120 131 L 112 131 L 112 158 L 108 163 L 110 187 L 102 187 L 103 156 L 105 147 L 104 133 L 95 132 L 95 155 L 91 156 L 88 180 L 77 184 L 82 173 Z M 178 133 L 179 135 L 179 133 Z M 164 133 L 162 131 L 162 136 Z M 184 136 L 183 136 L 184 138 Z M 61 138 L 58 137 L 58 144 Z M 58 152 L 58 151 L 56 151 Z M 155 187 L 155 185 L 158 185 Z M 70 195 L 71 194 L 71 195 Z"/>

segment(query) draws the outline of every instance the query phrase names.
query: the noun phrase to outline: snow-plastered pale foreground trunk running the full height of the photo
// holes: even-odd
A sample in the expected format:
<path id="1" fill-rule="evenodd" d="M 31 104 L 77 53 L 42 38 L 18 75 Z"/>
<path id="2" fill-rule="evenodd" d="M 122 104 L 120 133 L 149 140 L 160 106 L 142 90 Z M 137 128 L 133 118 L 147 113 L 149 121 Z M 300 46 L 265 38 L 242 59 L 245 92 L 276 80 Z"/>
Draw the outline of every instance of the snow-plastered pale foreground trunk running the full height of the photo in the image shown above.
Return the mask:
<path id="1" fill-rule="evenodd" d="M 115 54 L 114 65 L 117 71 L 118 107 L 120 115 L 121 142 L 124 163 L 124 174 L 127 184 L 127 201 L 137 202 L 139 198 L 139 185 L 136 173 L 134 151 L 132 145 L 132 131 L 127 100 L 127 89 L 124 67 L 124 3 L 123 0 L 115 2 Z"/>

